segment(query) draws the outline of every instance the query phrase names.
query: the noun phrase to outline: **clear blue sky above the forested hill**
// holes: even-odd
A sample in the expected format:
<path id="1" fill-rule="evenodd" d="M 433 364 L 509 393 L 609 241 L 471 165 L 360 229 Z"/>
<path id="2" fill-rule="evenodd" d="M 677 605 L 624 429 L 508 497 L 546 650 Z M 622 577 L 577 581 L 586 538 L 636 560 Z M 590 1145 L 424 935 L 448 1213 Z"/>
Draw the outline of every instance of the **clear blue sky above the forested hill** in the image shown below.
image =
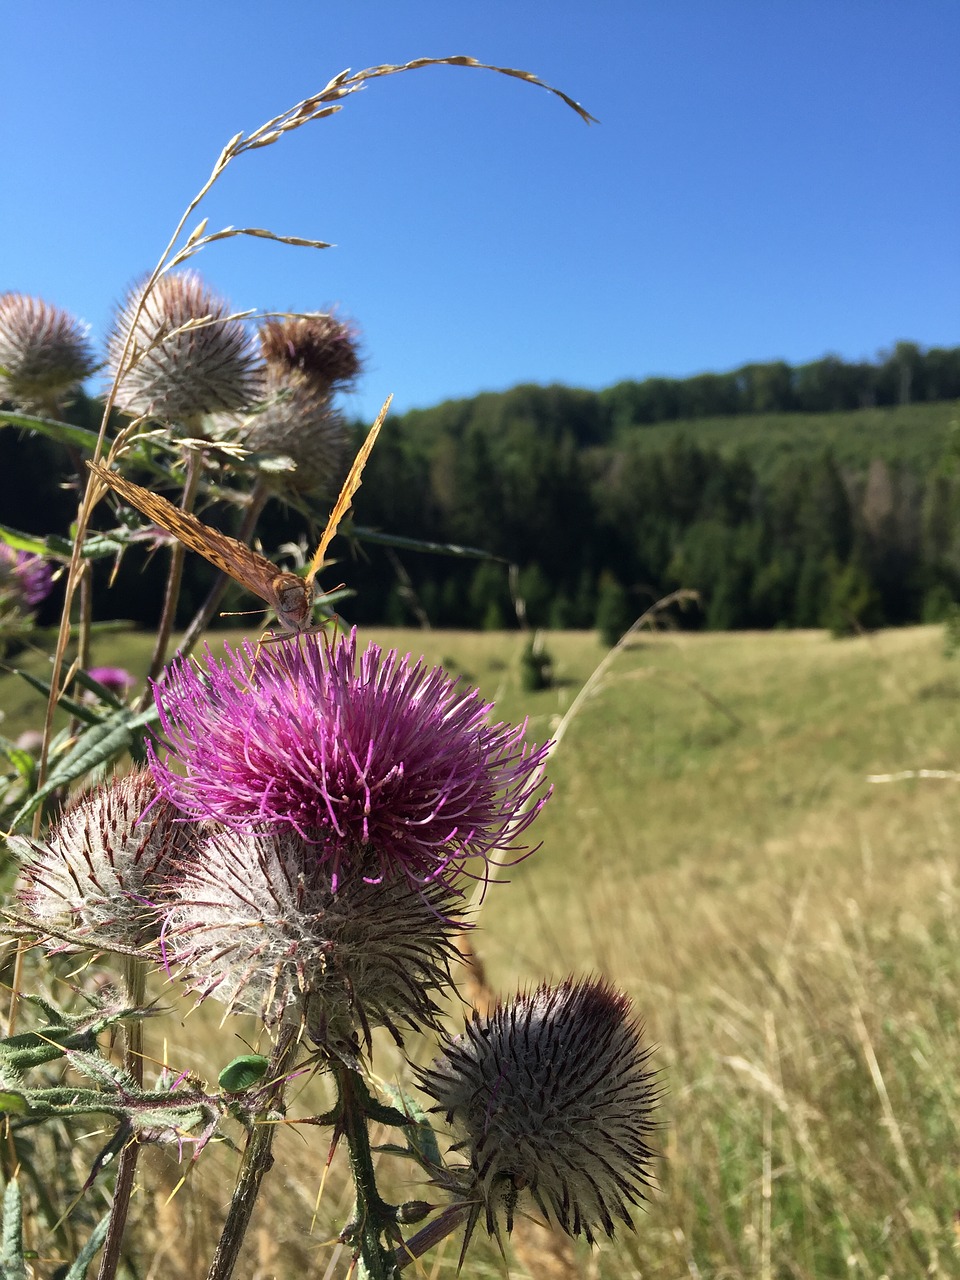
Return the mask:
<path id="1" fill-rule="evenodd" d="M 370 416 L 520 381 L 960 344 L 956 0 L 92 0 L 5 5 L 0 289 L 95 334 L 221 146 L 344 67 L 379 81 L 204 206 L 236 307 L 339 305 Z"/>

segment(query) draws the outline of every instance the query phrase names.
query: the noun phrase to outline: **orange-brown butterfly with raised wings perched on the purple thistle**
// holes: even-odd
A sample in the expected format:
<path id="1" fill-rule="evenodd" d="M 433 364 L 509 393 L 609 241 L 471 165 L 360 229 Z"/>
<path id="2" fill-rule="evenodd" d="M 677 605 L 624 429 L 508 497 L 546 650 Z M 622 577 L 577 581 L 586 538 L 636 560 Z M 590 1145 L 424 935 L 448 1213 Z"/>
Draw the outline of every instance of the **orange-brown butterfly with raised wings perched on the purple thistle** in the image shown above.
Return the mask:
<path id="1" fill-rule="evenodd" d="M 246 586 L 248 591 L 265 600 L 276 614 L 280 626 L 287 631 L 307 631 L 311 626 L 314 611 L 314 579 L 324 563 L 326 548 L 330 545 L 340 521 L 349 511 L 353 494 L 360 488 L 364 467 L 374 444 L 376 444 L 376 436 L 380 434 L 380 428 L 387 417 L 392 399 L 392 396 L 387 397 L 384 407 L 376 415 L 376 421 L 370 428 L 366 439 L 360 447 L 360 452 L 353 460 L 347 479 L 343 481 L 340 494 L 330 512 L 330 518 L 326 521 L 326 529 L 324 529 L 316 552 L 314 552 L 306 577 L 283 572 L 265 556 L 259 556 L 257 552 L 251 550 L 250 547 L 246 547 L 238 539 L 230 538 L 228 534 L 221 534 L 218 529 L 211 529 L 202 520 L 197 520 L 189 512 L 174 507 L 172 502 L 161 498 L 160 494 L 151 493 L 148 489 L 133 484 L 119 475 L 119 472 L 101 467 L 96 462 L 87 462 L 87 466 L 99 480 L 109 485 L 110 489 L 115 489 L 122 498 L 125 498 L 127 502 L 142 511 L 145 516 L 154 520 L 161 529 L 168 530 L 168 532 L 178 538 L 186 547 L 189 547 L 191 550 L 200 552 L 211 564 L 215 564 L 236 582 L 239 582 L 241 586 Z"/>

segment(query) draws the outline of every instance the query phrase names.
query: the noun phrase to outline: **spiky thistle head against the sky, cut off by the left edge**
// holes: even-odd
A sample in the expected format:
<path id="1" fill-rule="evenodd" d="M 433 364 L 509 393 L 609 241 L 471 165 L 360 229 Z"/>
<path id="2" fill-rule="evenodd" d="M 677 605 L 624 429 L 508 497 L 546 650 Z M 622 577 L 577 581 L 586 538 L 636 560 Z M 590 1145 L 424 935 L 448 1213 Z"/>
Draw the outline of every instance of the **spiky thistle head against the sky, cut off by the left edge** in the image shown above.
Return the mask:
<path id="1" fill-rule="evenodd" d="M 23 293 L 0 294 L 0 401 L 49 410 L 95 369 L 87 326 Z"/>

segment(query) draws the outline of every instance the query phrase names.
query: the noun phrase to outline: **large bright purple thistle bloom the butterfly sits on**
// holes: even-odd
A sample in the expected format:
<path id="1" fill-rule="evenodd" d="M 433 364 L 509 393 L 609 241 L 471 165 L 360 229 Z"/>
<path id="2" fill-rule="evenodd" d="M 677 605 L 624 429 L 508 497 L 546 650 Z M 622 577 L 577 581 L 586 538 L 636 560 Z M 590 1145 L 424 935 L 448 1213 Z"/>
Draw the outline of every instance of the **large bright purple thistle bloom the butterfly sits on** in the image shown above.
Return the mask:
<path id="1" fill-rule="evenodd" d="M 452 883 L 547 799 L 534 800 L 547 746 L 525 742 L 526 724 L 490 724 L 492 703 L 422 658 L 371 644 L 357 663 L 356 632 L 227 653 L 202 671 L 177 659 L 156 690 L 173 748 L 169 763 L 148 748 L 157 788 L 192 818 L 293 829 L 333 861 L 334 890 L 358 852 L 387 879 Z"/>

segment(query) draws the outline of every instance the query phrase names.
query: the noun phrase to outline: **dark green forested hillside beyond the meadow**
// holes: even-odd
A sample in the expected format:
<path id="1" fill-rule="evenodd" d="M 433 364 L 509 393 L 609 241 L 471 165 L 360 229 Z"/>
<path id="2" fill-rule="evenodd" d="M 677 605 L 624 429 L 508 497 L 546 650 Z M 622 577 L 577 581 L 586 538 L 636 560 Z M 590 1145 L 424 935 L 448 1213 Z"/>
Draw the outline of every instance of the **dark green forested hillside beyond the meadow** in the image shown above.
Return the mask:
<path id="1" fill-rule="evenodd" d="M 393 415 L 356 538 L 337 547 L 333 572 L 356 591 L 342 612 L 616 634 L 687 588 L 699 603 L 681 625 L 695 628 L 941 620 L 960 600 L 959 399 L 960 348 L 900 342 L 874 364 L 776 361 L 600 392 L 524 385 Z M 96 425 L 99 410 L 79 399 L 70 416 Z M 51 442 L 0 433 L 0 521 L 65 531 L 73 474 Z M 229 531 L 234 515 L 205 518 Z M 325 517 L 311 526 L 273 504 L 265 552 L 308 543 Z M 97 593 L 102 616 L 155 622 L 164 553 L 145 559 L 127 553 Z M 212 571 L 192 556 L 188 572 L 184 618 Z"/>

